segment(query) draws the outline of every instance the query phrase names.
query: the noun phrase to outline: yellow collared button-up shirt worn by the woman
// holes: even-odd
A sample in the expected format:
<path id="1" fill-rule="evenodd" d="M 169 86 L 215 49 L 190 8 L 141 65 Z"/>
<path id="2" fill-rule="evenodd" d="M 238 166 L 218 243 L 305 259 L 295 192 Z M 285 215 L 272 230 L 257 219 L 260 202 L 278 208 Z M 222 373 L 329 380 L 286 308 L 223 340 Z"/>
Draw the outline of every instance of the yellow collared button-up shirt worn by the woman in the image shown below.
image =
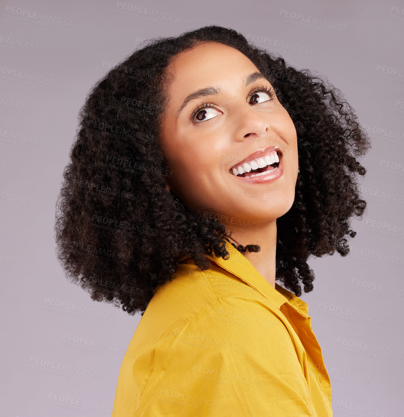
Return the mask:
<path id="1" fill-rule="evenodd" d="M 199 271 L 183 259 L 147 306 L 112 417 L 330 417 L 331 386 L 307 304 L 271 286 L 226 241 Z"/>

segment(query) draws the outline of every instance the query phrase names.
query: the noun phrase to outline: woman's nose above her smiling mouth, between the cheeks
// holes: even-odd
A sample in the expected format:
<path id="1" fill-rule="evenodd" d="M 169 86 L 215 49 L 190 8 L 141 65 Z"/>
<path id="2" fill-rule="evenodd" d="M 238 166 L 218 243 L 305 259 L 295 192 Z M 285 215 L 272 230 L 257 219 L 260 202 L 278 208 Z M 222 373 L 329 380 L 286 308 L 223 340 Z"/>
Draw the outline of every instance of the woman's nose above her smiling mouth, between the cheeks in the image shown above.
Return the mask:
<path id="1" fill-rule="evenodd" d="M 236 111 L 233 111 L 234 119 L 232 123 L 235 124 L 234 140 L 236 142 L 245 141 L 247 138 L 260 140 L 270 136 L 269 121 L 256 111 L 253 106 L 235 106 Z"/>

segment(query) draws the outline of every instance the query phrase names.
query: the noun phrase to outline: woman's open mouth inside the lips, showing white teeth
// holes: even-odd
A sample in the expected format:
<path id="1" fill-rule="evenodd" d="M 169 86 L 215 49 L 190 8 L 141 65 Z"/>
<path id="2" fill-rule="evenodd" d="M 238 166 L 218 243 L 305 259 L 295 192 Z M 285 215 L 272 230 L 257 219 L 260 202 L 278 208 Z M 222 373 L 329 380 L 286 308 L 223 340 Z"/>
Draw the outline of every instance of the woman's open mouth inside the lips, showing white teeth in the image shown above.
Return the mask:
<path id="1" fill-rule="evenodd" d="M 274 149 L 265 156 L 253 158 L 249 161 L 232 166 L 232 168 L 230 168 L 230 173 L 241 178 L 268 175 L 278 169 L 280 158 L 282 158 L 282 154 L 279 149 Z"/>

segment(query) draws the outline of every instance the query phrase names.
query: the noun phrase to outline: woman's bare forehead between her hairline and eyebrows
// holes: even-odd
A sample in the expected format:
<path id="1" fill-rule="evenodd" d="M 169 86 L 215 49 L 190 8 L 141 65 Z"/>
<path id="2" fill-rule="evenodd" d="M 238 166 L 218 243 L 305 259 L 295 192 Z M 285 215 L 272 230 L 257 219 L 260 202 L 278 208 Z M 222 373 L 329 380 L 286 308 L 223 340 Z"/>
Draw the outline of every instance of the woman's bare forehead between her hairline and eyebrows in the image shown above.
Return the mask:
<path id="1" fill-rule="evenodd" d="M 175 55 L 167 70 L 173 75 L 169 89 L 187 89 L 241 82 L 257 67 L 239 50 L 217 42 L 195 45 Z"/>

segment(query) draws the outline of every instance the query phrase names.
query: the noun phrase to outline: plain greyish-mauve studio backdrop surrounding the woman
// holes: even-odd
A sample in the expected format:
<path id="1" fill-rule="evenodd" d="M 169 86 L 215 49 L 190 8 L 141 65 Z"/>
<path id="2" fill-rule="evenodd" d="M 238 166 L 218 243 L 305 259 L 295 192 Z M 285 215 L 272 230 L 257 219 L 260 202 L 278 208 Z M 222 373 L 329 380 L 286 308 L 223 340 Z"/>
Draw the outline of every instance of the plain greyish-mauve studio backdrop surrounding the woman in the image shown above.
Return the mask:
<path id="1" fill-rule="evenodd" d="M 311 259 L 315 290 L 301 298 L 331 378 L 334 415 L 401 416 L 404 3 L 128 3 L 142 8 L 137 13 L 118 4 L 0 3 L 1 415 L 111 414 L 140 316 L 91 301 L 56 261 L 55 202 L 77 113 L 91 86 L 142 39 L 216 23 L 290 65 L 326 75 L 369 131 L 373 146 L 362 160 L 368 208 L 352 223 L 358 234 L 349 241 L 351 253 Z M 144 19 L 144 8 L 164 17 Z M 52 20 L 44 24 L 34 13 Z M 20 71 L 38 81 L 18 82 Z M 348 309 L 364 315 L 355 318 Z M 95 352 L 86 350 L 92 340 L 101 344 Z M 377 353 L 366 356 L 366 349 Z M 84 406 L 74 409 L 76 400 Z"/>

